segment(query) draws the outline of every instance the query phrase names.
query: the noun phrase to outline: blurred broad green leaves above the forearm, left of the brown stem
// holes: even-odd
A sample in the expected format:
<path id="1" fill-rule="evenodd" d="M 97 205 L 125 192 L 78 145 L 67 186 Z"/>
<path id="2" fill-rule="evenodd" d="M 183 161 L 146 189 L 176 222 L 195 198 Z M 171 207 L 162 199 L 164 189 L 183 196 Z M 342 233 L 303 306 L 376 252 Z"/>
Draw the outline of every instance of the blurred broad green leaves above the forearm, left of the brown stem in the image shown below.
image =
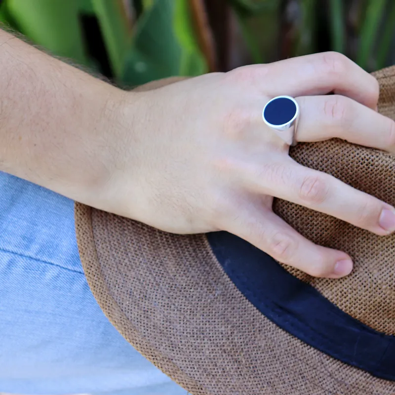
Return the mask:
<path id="1" fill-rule="evenodd" d="M 107 61 L 111 72 L 105 74 L 121 85 L 208 71 L 188 1 L 143 0 L 140 6 L 137 19 L 132 0 L 4 0 L 0 20 L 81 65 L 103 72 Z"/>

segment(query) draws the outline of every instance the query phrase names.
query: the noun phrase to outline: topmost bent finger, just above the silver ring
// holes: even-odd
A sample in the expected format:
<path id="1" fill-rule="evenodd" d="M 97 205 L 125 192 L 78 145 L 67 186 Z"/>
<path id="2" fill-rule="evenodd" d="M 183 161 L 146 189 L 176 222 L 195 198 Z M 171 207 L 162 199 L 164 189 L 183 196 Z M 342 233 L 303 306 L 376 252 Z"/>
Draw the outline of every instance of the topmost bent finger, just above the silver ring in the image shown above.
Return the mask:
<path id="1" fill-rule="evenodd" d="M 265 94 L 295 97 L 334 92 L 371 109 L 377 107 L 377 80 L 340 53 L 300 56 L 258 67 L 262 70 L 257 74 L 264 82 Z"/>

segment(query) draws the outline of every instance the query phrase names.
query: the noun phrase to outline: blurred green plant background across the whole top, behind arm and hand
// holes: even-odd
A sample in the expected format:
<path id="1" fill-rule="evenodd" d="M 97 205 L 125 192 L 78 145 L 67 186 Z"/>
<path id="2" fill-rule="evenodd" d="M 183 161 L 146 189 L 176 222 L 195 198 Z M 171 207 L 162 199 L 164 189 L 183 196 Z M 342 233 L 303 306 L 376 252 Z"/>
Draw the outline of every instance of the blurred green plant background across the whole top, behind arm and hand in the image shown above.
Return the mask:
<path id="1" fill-rule="evenodd" d="M 228 35 L 236 29 L 246 56 L 236 65 L 324 50 L 345 53 L 368 71 L 395 61 L 395 0 L 211 1 L 226 4 L 237 21 Z M 0 21 L 55 55 L 131 86 L 209 71 L 192 2 L 0 0 Z"/>

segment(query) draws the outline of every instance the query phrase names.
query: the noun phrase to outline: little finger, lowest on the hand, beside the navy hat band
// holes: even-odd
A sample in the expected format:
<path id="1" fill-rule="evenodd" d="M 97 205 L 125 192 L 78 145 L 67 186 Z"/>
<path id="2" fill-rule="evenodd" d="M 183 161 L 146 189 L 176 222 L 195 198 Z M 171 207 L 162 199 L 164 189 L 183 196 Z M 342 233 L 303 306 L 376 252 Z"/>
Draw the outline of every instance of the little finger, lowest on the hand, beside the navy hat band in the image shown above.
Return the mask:
<path id="1" fill-rule="evenodd" d="M 277 261 L 311 276 L 339 278 L 347 276 L 353 269 L 347 254 L 314 244 L 262 206 L 249 207 L 227 228 L 228 232 L 245 239 Z"/>

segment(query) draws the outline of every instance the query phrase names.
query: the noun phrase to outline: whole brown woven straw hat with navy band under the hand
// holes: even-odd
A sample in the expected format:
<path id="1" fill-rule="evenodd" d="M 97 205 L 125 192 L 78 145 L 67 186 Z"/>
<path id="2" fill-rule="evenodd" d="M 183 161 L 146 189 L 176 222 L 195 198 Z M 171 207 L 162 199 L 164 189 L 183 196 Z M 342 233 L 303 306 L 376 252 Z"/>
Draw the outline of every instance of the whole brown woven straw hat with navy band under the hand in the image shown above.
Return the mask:
<path id="1" fill-rule="evenodd" d="M 395 67 L 375 76 L 379 111 L 395 118 Z M 392 155 L 338 139 L 290 155 L 395 205 Z M 313 278 L 226 232 L 167 234 L 76 203 L 92 292 L 122 336 L 193 395 L 395 394 L 395 236 L 274 207 L 349 253 L 353 273 Z"/>

